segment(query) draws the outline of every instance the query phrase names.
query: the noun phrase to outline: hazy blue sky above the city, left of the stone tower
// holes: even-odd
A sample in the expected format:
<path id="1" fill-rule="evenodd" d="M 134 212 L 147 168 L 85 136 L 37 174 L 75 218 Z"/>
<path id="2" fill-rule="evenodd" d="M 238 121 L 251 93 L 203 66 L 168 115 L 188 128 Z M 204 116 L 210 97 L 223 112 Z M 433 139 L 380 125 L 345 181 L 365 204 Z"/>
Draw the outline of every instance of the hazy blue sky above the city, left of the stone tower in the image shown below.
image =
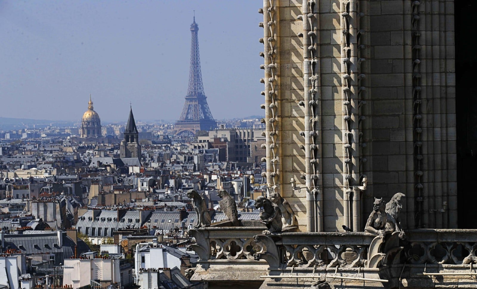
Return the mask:
<path id="1" fill-rule="evenodd" d="M 260 0 L 0 1 L 0 116 L 103 121 L 179 118 L 190 24 L 216 119 L 263 114 Z"/>

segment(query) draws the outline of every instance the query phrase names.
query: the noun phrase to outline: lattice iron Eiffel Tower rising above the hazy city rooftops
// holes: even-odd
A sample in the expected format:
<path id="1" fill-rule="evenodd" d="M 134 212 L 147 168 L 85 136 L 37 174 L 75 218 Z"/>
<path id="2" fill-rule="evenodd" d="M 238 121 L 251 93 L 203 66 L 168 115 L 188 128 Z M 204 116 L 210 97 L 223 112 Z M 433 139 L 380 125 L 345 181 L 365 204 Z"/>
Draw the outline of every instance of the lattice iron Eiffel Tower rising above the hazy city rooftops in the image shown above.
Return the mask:
<path id="1" fill-rule="evenodd" d="M 190 45 L 189 87 L 182 114 L 174 126 L 176 135 L 195 135 L 199 130 L 211 130 L 217 127 L 217 122 L 210 113 L 207 97 L 204 93 L 204 86 L 202 85 L 198 31 L 199 26 L 194 16 L 194 22 L 190 25 L 192 41 Z"/>

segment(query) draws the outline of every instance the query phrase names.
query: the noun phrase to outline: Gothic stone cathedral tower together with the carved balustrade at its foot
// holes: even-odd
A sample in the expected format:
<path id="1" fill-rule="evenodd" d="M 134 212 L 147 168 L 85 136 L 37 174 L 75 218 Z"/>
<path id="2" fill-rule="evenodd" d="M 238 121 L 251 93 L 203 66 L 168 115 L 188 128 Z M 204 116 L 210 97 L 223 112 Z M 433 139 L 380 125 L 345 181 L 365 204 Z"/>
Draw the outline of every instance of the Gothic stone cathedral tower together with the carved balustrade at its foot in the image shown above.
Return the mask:
<path id="1" fill-rule="evenodd" d="M 470 146 L 467 170 L 457 166 L 454 43 L 456 6 L 459 51 L 468 52 L 457 54 L 467 67 L 457 103 L 469 107 L 458 135 L 475 145 L 475 39 L 464 35 L 473 2 L 263 0 L 262 175 L 268 195 L 292 209 L 260 196 L 267 229 L 190 229 L 199 255 L 191 280 L 211 289 L 475 288 L 477 161 Z M 457 228 L 457 169 L 459 186 L 468 180 L 459 211 L 469 229 Z M 297 222 L 285 219 L 290 211 Z"/>

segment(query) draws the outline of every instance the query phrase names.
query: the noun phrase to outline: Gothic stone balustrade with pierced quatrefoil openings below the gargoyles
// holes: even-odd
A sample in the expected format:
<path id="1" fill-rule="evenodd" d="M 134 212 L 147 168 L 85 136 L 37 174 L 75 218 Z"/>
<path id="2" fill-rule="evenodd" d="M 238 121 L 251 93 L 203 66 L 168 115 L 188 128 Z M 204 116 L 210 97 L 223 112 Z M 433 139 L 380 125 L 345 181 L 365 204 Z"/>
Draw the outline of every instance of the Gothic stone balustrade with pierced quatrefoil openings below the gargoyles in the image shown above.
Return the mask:
<path id="1" fill-rule="evenodd" d="M 262 287 L 280 284 L 283 288 L 294 288 L 296 284 L 309 286 L 313 279 L 271 279 L 260 278 L 260 275 L 315 274 L 321 275 L 321 279 L 327 276 L 332 288 L 477 286 L 476 275 L 464 275 L 470 274 L 471 264 L 477 263 L 477 230 L 409 230 L 405 240 L 400 240 L 398 234 L 387 235 L 382 240 L 362 232 L 264 235 L 263 229 L 207 227 L 190 230 L 197 244 L 189 249 L 200 257 L 192 280 L 265 280 Z M 472 266 L 472 272 L 477 274 L 477 265 Z M 430 275 L 435 273 L 448 275 Z M 331 276 L 388 282 L 332 279 Z"/>

